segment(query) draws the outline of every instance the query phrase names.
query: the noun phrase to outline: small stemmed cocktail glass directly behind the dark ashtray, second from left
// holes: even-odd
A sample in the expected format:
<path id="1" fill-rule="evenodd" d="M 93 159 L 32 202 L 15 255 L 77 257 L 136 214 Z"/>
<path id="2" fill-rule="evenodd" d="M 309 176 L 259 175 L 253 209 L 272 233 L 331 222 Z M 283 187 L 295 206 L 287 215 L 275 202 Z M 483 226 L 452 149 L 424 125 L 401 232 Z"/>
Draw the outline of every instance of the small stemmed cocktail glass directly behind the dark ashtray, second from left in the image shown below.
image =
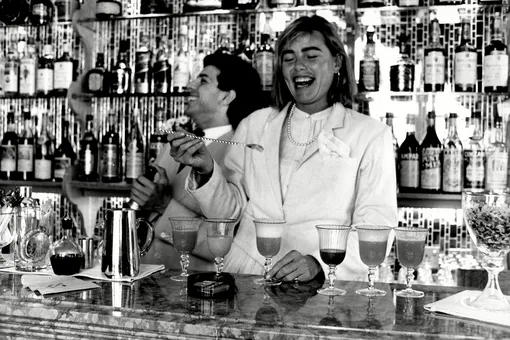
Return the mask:
<path id="1" fill-rule="evenodd" d="M 223 270 L 223 257 L 227 255 L 234 238 L 236 221 L 232 219 L 208 218 L 204 219 L 207 228 L 207 245 L 214 255 L 216 277 L 221 276 Z"/>

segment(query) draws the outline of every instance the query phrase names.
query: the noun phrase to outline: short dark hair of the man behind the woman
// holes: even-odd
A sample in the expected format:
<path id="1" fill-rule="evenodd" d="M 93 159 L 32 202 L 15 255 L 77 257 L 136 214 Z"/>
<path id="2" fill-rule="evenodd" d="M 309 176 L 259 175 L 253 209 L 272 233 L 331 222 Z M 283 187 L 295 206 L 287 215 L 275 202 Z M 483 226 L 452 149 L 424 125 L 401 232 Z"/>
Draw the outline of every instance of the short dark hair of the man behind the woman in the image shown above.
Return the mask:
<path id="1" fill-rule="evenodd" d="M 220 90 L 236 92 L 236 98 L 227 110 L 227 117 L 234 129 L 250 113 L 262 108 L 260 77 L 251 64 L 230 54 L 214 53 L 204 58 L 206 66 L 214 66 L 220 71 Z"/>

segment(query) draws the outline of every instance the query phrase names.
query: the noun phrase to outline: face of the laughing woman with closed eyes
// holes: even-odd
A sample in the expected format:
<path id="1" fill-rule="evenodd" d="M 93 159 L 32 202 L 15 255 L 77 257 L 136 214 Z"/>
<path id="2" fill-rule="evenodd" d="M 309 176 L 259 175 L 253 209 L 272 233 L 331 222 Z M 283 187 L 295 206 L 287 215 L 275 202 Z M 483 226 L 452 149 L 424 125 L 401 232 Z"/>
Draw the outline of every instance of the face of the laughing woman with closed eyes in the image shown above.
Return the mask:
<path id="1" fill-rule="evenodd" d="M 328 90 L 339 65 L 339 57 L 317 31 L 298 36 L 283 50 L 283 78 L 300 110 L 311 114 L 328 107 Z"/>

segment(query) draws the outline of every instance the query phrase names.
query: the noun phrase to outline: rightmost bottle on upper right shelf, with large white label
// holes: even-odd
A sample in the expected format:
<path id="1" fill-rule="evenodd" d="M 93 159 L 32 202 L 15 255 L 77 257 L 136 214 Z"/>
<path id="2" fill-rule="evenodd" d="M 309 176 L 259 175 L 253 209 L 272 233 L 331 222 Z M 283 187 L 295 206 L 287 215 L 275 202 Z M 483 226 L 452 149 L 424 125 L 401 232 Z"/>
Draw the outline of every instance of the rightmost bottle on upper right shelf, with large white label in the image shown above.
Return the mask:
<path id="1" fill-rule="evenodd" d="M 483 86 L 485 92 L 508 92 L 508 55 L 503 42 L 501 15 L 492 17 L 491 42 L 485 47 Z"/>

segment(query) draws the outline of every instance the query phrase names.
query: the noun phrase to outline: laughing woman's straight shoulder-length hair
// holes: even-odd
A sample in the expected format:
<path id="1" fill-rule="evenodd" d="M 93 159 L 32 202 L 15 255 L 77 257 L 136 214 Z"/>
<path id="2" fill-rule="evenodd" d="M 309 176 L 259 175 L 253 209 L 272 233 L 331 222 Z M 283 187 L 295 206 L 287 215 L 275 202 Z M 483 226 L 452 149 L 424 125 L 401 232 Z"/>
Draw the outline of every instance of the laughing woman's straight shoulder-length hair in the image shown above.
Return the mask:
<path id="1" fill-rule="evenodd" d="M 285 83 L 282 72 L 283 51 L 298 37 L 317 31 L 322 34 L 326 46 L 333 56 L 340 56 L 342 64 L 328 92 L 328 104 L 340 102 L 345 107 L 352 108 L 356 83 L 353 69 L 344 45 L 340 40 L 336 27 L 321 16 L 300 17 L 290 23 L 276 42 L 276 60 L 273 74 L 273 106 L 283 109 L 288 102 L 293 101 L 292 95 Z"/>

